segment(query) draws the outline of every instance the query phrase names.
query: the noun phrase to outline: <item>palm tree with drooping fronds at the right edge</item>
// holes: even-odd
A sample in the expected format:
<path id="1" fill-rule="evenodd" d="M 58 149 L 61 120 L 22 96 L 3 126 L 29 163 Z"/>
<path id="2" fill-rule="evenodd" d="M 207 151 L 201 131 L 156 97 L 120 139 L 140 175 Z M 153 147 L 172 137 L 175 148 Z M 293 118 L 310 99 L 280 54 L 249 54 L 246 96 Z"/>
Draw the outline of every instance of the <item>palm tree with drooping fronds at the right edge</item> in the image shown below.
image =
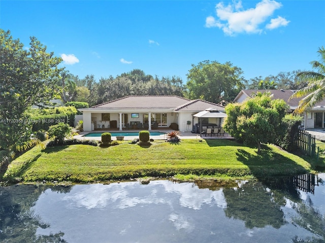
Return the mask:
<path id="1" fill-rule="evenodd" d="M 311 61 L 310 64 L 317 72 L 300 72 L 297 78 L 301 82 L 308 82 L 308 86 L 298 90 L 290 98 L 302 97 L 295 113 L 303 113 L 314 107 L 315 103 L 325 99 L 325 49 L 318 49 L 319 61 Z"/>

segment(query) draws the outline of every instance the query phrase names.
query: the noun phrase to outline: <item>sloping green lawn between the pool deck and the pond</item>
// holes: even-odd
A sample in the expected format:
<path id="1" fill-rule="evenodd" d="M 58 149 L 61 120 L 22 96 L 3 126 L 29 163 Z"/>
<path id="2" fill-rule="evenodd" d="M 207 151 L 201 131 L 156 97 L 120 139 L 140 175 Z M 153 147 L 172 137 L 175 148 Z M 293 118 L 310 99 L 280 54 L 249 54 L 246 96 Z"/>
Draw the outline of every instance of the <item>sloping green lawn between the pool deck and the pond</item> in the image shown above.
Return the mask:
<path id="1" fill-rule="evenodd" d="M 257 149 L 228 140 L 155 141 L 149 147 L 123 142 L 108 148 L 71 145 L 33 148 L 14 160 L 5 180 L 96 182 L 176 174 L 262 178 L 311 171 L 303 158 L 273 145 Z"/>

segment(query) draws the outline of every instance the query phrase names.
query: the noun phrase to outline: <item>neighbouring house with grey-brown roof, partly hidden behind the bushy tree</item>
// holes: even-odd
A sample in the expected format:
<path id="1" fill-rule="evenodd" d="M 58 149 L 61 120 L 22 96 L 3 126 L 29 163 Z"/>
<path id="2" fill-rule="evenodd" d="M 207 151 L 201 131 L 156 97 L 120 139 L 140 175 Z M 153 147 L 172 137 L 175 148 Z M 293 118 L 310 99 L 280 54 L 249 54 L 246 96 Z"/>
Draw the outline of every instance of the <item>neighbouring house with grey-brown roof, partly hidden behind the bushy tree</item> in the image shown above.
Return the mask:
<path id="1" fill-rule="evenodd" d="M 241 90 L 239 94 L 235 97 L 234 102 L 243 102 L 245 99 L 250 98 L 256 92 L 270 92 L 273 95 L 274 99 L 283 99 L 289 106 L 290 111 L 294 112 L 299 105 L 301 98 L 290 99 L 296 90 L 287 90 L 287 89 L 247 89 Z M 319 102 L 313 107 L 310 111 L 303 114 L 303 127 L 304 129 L 308 128 L 324 128 L 325 126 L 325 100 Z"/>

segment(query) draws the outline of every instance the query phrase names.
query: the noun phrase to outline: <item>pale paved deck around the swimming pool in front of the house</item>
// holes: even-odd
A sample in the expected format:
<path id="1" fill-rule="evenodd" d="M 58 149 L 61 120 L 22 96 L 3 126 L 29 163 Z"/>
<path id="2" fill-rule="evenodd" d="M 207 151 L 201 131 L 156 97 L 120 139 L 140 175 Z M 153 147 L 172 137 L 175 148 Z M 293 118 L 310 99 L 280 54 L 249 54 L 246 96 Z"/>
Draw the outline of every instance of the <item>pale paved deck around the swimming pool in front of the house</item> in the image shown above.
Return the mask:
<path id="1" fill-rule="evenodd" d="M 132 130 L 133 132 L 139 132 L 137 130 Z M 170 130 L 151 130 L 152 132 L 169 132 Z M 95 131 L 83 131 L 80 132 L 79 135 L 75 135 L 74 138 L 80 139 L 80 140 L 97 140 L 97 141 L 101 141 L 102 137 L 100 136 L 84 136 L 87 133 L 90 132 L 117 132 L 115 131 L 108 131 L 108 130 L 95 130 Z M 118 131 L 118 132 L 123 132 L 123 131 Z M 127 132 L 127 131 L 124 131 Z M 166 140 L 166 133 L 165 134 L 161 134 L 161 135 L 150 135 L 150 138 L 152 138 L 153 140 Z M 124 140 L 127 141 L 132 141 L 135 138 L 139 138 L 139 135 L 137 136 L 124 136 Z M 189 131 L 184 131 L 184 132 L 180 132 L 179 138 L 182 139 L 232 139 L 233 137 L 229 136 L 228 134 L 225 134 L 224 136 L 200 136 L 200 134 L 197 133 L 191 133 Z M 112 140 L 116 140 L 116 136 L 112 136 Z"/>

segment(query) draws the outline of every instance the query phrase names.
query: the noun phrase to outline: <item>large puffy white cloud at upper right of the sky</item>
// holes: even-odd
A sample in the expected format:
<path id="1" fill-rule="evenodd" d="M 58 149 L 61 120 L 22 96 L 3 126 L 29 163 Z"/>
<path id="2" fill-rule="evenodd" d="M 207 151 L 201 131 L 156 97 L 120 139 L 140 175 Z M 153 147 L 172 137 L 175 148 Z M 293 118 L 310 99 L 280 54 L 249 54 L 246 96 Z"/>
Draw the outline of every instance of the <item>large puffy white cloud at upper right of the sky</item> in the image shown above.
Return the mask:
<path id="1" fill-rule="evenodd" d="M 255 8 L 247 10 L 243 9 L 241 1 L 233 2 L 228 6 L 224 6 L 221 2 L 216 5 L 218 19 L 213 16 L 207 17 L 205 26 L 208 28 L 218 27 L 230 36 L 242 32 L 261 33 L 263 31 L 261 25 L 273 15 L 275 10 L 281 7 L 281 3 L 273 0 L 262 0 L 256 4 Z M 271 23 L 267 25 L 269 29 L 285 26 L 289 21 L 278 17 L 273 22 L 271 20 Z"/>

